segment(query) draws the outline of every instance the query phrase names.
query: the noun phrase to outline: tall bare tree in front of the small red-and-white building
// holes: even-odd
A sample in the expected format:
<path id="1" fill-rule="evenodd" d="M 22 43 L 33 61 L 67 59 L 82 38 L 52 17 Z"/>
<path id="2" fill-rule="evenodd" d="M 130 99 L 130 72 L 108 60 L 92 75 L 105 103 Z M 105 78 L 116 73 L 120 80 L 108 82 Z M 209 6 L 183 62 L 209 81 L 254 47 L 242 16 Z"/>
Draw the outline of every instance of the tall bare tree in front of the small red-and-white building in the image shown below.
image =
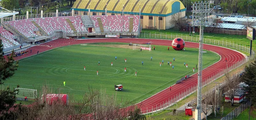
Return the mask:
<path id="1" fill-rule="evenodd" d="M 227 83 L 225 87 L 226 90 L 224 91 L 227 91 L 227 96 L 230 99 L 230 104 L 231 106 L 234 106 L 234 96 L 235 96 L 235 93 L 237 92 L 238 84 L 241 82 L 241 78 L 236 77 L 235 75 L 233 75 L 233 77 L 230 77 L 228 73 L 226 73 L 225 76 L 226 76 Z"/>

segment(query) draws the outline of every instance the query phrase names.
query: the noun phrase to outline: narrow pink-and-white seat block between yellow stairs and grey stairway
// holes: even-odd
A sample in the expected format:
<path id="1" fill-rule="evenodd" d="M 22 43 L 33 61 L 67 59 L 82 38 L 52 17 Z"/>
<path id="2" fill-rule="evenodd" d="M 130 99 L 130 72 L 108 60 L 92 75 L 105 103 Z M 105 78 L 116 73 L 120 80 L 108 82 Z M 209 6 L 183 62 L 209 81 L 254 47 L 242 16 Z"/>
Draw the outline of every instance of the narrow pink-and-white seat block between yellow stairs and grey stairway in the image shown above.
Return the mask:
<path id="1" fill-rule="evenodd" d="M 70 16 L 69 20 L 72 22 L 76 31 L 78 31 L 78 32 L 87 31 L 80 16 Z"/>

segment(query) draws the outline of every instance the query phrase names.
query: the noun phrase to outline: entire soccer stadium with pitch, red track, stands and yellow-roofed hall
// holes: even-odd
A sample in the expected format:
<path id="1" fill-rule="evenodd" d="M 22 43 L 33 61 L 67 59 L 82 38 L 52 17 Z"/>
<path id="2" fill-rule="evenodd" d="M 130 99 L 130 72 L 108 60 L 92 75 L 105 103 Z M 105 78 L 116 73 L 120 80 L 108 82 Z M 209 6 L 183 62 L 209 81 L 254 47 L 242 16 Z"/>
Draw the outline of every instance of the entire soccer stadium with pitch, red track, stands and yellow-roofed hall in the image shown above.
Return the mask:
<path id="1" fill-rule="evenodd" d="M 65 104 L 69 97 L 82 99 L 89 86 L 115 95 L 120 108 L 135 104 L 148 115 L 197 92 L 199 63 L 206 86 L 249 60 L 250 49 L 242 44 L 204 39 L 200 51 L 198 37 L 140 33 L 171 28 L 177 13 L 186 14 L 179 0 L 76 0 L 65 13 L 1 12 L 4 59 L 19 61 L 4 85 L 19 84 L 19 100 L 64 94 Z M 51 89 L 47 98 L 45 85 Z"/>

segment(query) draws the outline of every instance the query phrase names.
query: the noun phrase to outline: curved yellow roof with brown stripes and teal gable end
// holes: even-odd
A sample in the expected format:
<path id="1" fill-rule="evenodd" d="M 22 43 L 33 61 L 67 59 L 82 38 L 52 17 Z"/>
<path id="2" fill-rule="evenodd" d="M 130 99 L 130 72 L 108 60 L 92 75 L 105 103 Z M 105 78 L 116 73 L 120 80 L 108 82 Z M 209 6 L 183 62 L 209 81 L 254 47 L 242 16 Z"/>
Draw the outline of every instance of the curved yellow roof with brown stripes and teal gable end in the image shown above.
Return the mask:
<path id="1" fill-rule="evenodd" d="M 141 8 L 141 13 L 174 14 L 186 10 L 179 0 L 76 0 L 72 8 L 122 11 L 123 5 L 124 12 L 140 12 Z"/>

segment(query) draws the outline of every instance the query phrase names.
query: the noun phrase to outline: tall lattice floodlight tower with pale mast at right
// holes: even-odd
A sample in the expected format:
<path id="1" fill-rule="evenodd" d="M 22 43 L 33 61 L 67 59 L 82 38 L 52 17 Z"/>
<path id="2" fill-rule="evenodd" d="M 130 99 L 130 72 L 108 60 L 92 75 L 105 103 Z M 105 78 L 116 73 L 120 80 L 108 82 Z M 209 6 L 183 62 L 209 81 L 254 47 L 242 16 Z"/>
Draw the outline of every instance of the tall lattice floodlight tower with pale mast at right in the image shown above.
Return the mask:
<path id="1" fill-rule="evenodd" d="M 212 19 L 209 17 L 212 9 L 210 8 L 209 1 L 201 1 L 192 3 L 193 15 L 192 15 L 192 26 L 200 27 L 200 38 L 199 38 L 199 57 L 198 57 L 198 81 L 197 81 L 197 106 L 196 106 L 196 119 L 201 120 L 201 89 L 202 89 L 202 52 L 203 52 L 203 36 L 204 26 L 212 25 Z"/>

